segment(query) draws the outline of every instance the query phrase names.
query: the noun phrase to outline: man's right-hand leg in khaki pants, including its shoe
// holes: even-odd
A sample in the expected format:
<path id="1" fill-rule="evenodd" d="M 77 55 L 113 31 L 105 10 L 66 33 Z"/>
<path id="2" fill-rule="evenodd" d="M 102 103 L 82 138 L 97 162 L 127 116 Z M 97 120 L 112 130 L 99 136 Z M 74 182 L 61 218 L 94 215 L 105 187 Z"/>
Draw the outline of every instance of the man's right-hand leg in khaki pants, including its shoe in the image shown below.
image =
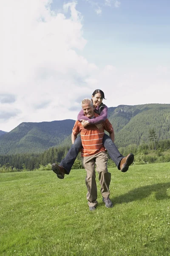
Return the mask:
<path id="1" fill-rule="evenodd" d="M 100 191 L 103 197 L 103 201 L 105 202 L 105 206 L 111 208 L 113 207 L 113 204 L 109 198 L 111 173 L 108 172 L 108 156 L 105 151 L 96 154 L 96 171 L 99 173 L 99 182 L 101 185 Z"/>

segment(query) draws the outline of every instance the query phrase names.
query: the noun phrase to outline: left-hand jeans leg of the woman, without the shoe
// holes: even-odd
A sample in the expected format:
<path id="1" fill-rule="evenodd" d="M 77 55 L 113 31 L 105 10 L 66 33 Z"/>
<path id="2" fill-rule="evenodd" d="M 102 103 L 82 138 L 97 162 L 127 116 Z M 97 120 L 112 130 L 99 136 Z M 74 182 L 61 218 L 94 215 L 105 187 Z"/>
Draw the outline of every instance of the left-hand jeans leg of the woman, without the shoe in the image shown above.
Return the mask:
<path id="1" fill-rule="evenodd" d="M 61 163 L 59 164 L 59 166 L 62 166 L 66 170 L 66 174 L 70 173 L 71 167 L 73 166 L 74 161 L 76 160 L 76 157 L 81 149 L 82 140 L 81 137 L 78 136 L 77 139 L 74 141 L 74 144 L 71 145 L 71 148 L 69 149 L 65 158 L 63 158 Z"/>

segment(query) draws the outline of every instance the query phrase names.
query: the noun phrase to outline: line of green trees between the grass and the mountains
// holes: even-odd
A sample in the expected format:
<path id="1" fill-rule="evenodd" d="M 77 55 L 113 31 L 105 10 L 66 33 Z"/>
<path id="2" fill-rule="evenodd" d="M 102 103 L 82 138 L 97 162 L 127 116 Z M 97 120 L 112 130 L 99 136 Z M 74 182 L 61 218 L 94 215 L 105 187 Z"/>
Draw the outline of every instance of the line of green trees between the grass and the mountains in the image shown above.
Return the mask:
<path id="1" fill-rule="evenodd" d="M 152 142 L 152 143 L 151 143 Z M 0 166 L 8 164 L 11 168 L 16 168 L 22 170 L 24 168 L 28 170 L 34 170 L 40 168 L 40 166 L 46 166 L 48 163 L 60 163 L 61 160 L 65 157 L 69 150 L 68 146 L 60 147 L 51 147 L 48 150 L 45 150 L 43 153 L 23 153 L 23 154 L 7 154 L 0 155 Z M 150 142 L 142 143 L 141 145 L 130 144 L 127 147 L 119 148 L 121 154 L 126 156 L 130 152 L 134 155 L 144 154 L 145 156 L 149 154 L 150 151 L 156 151 L 157 156 L 161 157 L 161 152 L 170 150 L 170 140 L 160 140 L 156 141 L 154 137 L 154 132 L 150 131 Z M 163 157 L 163 156 L 162 156 Z M 109 158 L 109 166 L 114 167 L 114 163 Z M 147 157 L 145 157 L 147 158 Z M 169 158 L 167 158 L 168 160 Z M 166 160 L 166 161 L 167 161 Z M 81 156 L 80 153 L 77 157 L 77 160 L 73 166 L 73 169 L 82 168 L 81 165 Z"/>

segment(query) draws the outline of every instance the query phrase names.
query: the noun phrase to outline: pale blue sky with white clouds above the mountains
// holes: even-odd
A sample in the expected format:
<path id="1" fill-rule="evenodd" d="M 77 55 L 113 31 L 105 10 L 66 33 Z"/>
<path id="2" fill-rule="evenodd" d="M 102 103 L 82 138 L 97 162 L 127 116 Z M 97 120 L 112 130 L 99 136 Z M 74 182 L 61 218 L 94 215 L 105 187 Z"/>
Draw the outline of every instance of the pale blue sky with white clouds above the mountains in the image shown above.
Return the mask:
<path id="1" fill-rule="evenodd" d="M 108 107 L 170 103 L 170 0 L 0 2 L 0 130 Z"/>

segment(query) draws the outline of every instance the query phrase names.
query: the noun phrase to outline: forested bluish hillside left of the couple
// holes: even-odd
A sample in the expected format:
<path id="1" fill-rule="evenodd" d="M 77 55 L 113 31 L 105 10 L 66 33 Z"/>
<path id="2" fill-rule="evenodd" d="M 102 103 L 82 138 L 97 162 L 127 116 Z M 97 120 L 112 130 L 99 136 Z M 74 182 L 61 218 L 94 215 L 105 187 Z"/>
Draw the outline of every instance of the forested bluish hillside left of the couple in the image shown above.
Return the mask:
<path id="1" fill-rule="evenodd" d="M 0 136 L 0 154 L 43 152 L 57 146 L 71 134 L 75 121 L 23 122 Z"/>

